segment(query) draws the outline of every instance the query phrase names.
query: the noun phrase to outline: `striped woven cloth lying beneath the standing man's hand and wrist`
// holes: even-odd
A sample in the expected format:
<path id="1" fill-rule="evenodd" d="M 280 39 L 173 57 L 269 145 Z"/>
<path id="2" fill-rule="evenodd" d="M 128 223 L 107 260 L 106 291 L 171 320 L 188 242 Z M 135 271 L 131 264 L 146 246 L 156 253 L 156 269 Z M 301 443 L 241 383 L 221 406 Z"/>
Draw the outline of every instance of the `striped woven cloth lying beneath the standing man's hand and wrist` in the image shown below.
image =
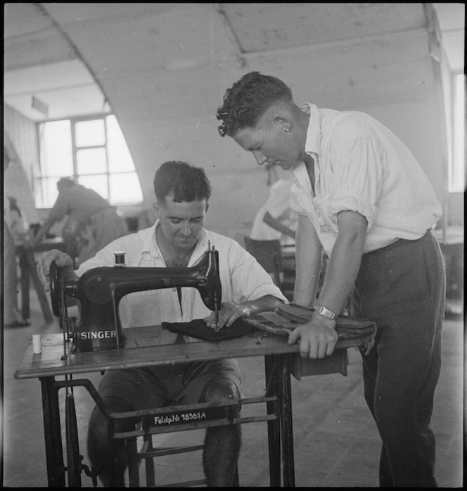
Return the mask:
<path id="1" fill-rule="evenodd" d="M 271 312 L 262 312 L 248 317 L 245 321 L 270 334 L 288 336 L 295 327 L 311 320 L 313 310 L 295 303 L 289 303 Z M 359 319 L 350 315 L 339 315 L 336 320 L 335 331 L 338 333 L 336 346 L 362 346 L 368 353 L 374 344 L 376 324 L 371 320 Z M 345 340 L 346 343 L 344 343 Z"/>

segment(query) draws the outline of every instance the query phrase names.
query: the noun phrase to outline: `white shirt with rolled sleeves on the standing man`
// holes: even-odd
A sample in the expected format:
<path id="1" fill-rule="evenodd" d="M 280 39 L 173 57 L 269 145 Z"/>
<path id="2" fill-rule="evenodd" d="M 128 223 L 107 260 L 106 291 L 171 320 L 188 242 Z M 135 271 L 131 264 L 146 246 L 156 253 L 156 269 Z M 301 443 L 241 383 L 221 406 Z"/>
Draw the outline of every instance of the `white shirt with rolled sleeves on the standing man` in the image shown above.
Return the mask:
<path id="1" fill-rule="evenodd" d="M 290 206 L 312 221 L 328 256 L 340 211 L 357 211 L 368 228 L 364 253 L 425 235 L 442 207 L 416 158 L 369 114 L 319 109 L 305 103 L 305 152 L 314 159 L 314 192 L 305 163 L 293 169 Z"/>

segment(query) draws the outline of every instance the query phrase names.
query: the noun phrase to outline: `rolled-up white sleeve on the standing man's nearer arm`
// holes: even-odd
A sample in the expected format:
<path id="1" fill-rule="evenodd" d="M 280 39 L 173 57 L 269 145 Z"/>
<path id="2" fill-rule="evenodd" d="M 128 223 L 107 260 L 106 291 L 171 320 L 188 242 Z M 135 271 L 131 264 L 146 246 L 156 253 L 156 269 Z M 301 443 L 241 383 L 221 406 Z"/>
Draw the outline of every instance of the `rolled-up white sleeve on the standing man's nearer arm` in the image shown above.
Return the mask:
<path id="1" fill-rule="evenodd" d="M 356 211 L 371 228 L 381 192 L 383 162 L 378 142 L 365 122 L 348 121 L 335 132 L 331 162 L 333 188 L 328 201 L 331 220 L 337 223 L 340 211 Z"/>

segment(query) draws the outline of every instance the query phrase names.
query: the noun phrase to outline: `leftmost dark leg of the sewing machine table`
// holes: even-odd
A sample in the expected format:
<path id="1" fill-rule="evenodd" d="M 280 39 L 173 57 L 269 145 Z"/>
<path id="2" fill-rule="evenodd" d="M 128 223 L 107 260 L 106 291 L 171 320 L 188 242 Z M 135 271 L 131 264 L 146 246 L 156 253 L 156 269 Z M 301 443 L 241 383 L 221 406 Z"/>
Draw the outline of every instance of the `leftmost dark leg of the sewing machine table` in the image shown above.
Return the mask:
<path id="1" fill-rule="evenodd" d="M 44 413 L 44 438 L 46 444 L 47 478 L 49 487 L 65 487 L 65 465 L 63 464 L 62 433 L 58 391 L 53 377 L 39 378 Z"/>

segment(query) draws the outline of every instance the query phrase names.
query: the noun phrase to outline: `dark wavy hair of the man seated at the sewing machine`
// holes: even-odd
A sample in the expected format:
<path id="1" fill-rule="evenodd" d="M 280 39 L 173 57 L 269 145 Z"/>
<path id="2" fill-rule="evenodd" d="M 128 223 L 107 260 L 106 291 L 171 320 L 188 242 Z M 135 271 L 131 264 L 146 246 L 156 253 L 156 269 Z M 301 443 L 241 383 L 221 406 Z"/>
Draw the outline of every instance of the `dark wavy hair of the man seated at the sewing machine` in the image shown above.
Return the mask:
<path id="1" fill-rule="evenodd" d="M 211 185 L 204 169 L 186 162 L 164 162 L 154 176 L 154 194 L 163 202 L 171 192 L 174 202 L 206 201 L 211 196 Z"/>

